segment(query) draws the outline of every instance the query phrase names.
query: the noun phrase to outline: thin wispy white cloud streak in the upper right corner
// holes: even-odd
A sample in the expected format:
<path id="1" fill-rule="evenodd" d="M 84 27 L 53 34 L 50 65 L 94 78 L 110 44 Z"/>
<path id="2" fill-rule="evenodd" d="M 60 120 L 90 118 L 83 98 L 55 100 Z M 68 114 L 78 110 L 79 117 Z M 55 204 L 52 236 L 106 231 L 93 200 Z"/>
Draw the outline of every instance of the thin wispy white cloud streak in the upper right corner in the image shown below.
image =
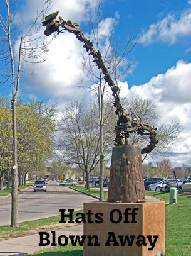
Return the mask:
<path id="1" fill-rule="evenodd" d="M 149 26 L 148 30 L 143 30 L 139 42 L 144 45 L 162 41 L 173 44 L 178 38 L 191 35 L 191 8 L 182 11 L 180 17 L 169 14 L 162 21 Z"/>

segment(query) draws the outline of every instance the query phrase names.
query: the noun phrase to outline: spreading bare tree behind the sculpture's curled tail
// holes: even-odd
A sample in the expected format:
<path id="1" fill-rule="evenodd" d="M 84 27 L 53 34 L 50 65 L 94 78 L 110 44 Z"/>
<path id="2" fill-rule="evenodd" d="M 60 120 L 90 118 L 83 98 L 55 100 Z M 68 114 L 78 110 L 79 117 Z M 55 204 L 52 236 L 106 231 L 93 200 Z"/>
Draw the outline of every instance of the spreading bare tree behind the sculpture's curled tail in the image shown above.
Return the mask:
<path id="1" fill-rule="evenodd" d="M 124 106 L 129 111 L 132 110 L 133 113 L 140 116 L 141 120 L 145 123 L 150 123 L 152 126 L 157 126 L 157 140 L 158 143 L 156 147 L 149 153 L 150 157 L 155 155 L 167 156 L 168 152 L 172 147 L 180 142 L 180 133 L 183 130 L 183 126 L 179 122 L 172 121 L 170 125 L 165 125 L 161 123 L 161 117 L 157 113 L 157 105 L 151 99 L 143 99 L 142 97 L 136 96 L 132 99 L 123 99 Z M 133 133 L 129 140 L 129 144 L 137 144 L 140 147 L 145 147 L 149 140 L 149 135 L 138 136 Z M 143 160 L 147 158 L 147 153 L 145 154 Z"/>

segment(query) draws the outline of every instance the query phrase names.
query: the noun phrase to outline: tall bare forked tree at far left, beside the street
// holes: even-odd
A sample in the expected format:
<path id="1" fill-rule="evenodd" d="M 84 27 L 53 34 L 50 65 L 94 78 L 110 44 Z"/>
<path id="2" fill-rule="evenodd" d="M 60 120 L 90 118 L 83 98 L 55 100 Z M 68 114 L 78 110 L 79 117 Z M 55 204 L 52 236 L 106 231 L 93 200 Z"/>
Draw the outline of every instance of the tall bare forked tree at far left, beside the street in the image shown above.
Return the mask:
<path id="1" fill-rule="evenodd" d="M 6 5 L 6 20 L 0 16 L 1 28 L 1 64 L 6 67 L 1 73 L 4 83 L 11 85 L 12 100 L 12 126 L 13 126 L 13 168 L 12 168 L 12 191 L 11 191 L 11 226 L 18 228 L 18 163 L 17 163 L 17 131 L 16 131 L 16 100 L 19 91 L 19 81 L 21 74 L 21 60 L 29 62 L 39 62 L 38 57 L 46 49 L 46 44 L 37 44 L 37 38 L 34 36 L 39 31 L 37 26 L 39 18 L 46 13 L 51 5 L 51 0 L 44 1 L 41 11 L 38 12 L 36 20 L 27 31 L 21 31 L 18 52 L 13 51 L 13 45 L 16 43 L 16 26 L 13 23 L 14 16 L 11 14 L 11 6 L 16 1 L 4 0 Z M 38 33 L 39 38 L 39 33 Z M 41 58 L 40 61 L 44 61 Z"/>

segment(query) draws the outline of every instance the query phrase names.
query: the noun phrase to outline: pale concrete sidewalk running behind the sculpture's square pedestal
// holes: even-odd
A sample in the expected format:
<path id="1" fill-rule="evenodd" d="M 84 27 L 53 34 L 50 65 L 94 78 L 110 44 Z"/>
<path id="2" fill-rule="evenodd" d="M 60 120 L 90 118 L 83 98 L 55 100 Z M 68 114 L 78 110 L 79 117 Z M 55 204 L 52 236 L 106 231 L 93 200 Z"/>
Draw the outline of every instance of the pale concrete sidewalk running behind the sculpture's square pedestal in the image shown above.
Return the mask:
<path id="1" fill-rule="evenodd" d="M 159 199 L 152 198 L 151 196 L 146 196 L 146 201 L 160 201 Z M 1 228 L 1 227 L 0 227 Z M 51 231 L 50 240 L 52 237 Z M 68 228 L 62 228 L 56 230 L 56 237 L 59 235 L 83 235 L 83 225 L 71 226 Z M 36 233 L 34 235 L 27 235 L 24 237 L 10 238 L 8 240 L 0 241 L 0 256 L 19 256 L 26 255 L 28 253 L 33 253 L 49 246 L 39 246 L 40 235 Z"/>

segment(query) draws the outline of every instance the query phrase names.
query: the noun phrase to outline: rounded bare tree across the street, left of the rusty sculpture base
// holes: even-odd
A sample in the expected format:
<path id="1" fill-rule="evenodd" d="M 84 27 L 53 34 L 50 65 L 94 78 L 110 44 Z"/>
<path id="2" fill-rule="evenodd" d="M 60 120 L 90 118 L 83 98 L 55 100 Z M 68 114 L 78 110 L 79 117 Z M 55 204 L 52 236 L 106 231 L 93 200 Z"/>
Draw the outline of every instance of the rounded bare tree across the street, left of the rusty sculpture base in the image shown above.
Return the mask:
<path id="1" fill-rule="evenodd" d="M 78 164 L 86 174 L 86 187 L 89 188 L 89 174 L 100 160 L 99 130 L 93 114 L 85 111 L 78 101 L 71 101 L 61 114 L 59 130 L 58 159 Z"/>

